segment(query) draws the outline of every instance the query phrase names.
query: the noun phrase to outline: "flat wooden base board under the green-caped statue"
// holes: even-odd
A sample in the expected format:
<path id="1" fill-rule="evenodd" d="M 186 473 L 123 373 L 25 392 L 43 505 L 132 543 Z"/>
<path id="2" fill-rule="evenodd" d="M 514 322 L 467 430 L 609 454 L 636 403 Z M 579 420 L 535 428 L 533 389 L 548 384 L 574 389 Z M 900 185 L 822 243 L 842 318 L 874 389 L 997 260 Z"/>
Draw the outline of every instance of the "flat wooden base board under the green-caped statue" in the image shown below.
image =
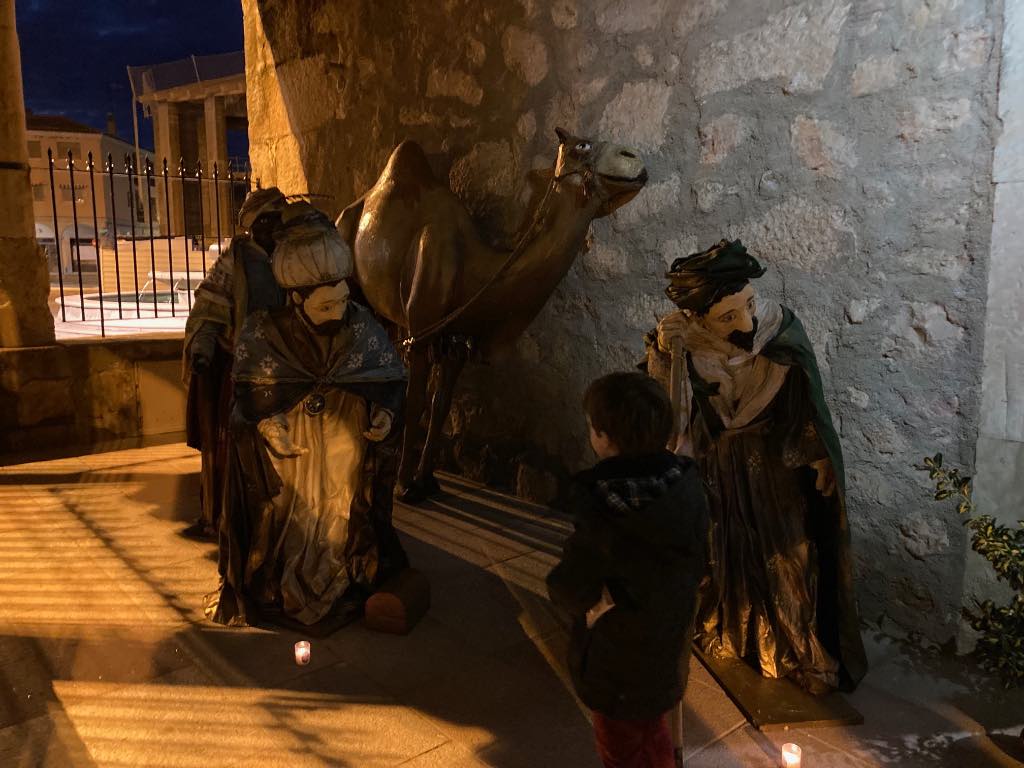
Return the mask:
<path id="1" fill-rule="evenodd" d="M 738 658 L 693 653 L 743 717 L 760 731 L 787 727 L 861 725 L 864 716 L 839 692 L 815 696 L 788 680 L 771 680 Z"/>

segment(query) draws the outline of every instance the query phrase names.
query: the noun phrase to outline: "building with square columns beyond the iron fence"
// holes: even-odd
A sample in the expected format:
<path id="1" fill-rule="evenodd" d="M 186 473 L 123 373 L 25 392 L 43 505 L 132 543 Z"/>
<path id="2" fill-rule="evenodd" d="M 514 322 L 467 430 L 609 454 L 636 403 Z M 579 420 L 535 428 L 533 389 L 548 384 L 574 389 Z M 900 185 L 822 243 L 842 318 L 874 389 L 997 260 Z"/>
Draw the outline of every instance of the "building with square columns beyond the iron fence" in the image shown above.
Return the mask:
<path id="1" fill-rule="evenodd" d="M 229 173 L 247 173 L 248 160 L 230 158 L 227 146 L 228 131 L 248 129 L 245 58 L 241 51 L 129 67 L 128 76 L 135 99 L 153 120 L 158 176 L 165 158 L 172 176 L 178 174 L 179 163 L 186 178 L 197 178 L 200 166 L 204 179 L 213 178 L 215 165 L 221 179 Z M 203 205 L 198 184 L 172 184 L 170 189 L 169 230 L 196 236 L 202 221 L 203 231 L 208 237 L 216 236 L 216 207 Z M 163 186 L 159 183 L 157 190 L 160 209 L 164 210 Z M 220 231 L 230 232 L 245 187 L 220 184 L 218 194 Z"/>

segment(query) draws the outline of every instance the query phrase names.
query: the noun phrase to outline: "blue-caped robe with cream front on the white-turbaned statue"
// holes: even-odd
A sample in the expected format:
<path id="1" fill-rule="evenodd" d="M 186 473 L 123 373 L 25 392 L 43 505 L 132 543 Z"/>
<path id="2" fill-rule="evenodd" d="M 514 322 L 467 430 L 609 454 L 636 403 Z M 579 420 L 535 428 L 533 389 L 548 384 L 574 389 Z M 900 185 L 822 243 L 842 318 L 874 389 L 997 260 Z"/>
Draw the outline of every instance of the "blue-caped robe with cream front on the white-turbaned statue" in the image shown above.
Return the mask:
<path id="1" fill-rule="evenodd" d="M 353 614 L 408 566 L 391 520 L 404 367 L 370 311 L 349 302 L 331 336 L 291 307 L 251 314 L 232 376 L 221 585 L 207 614 L 231 625 Z M 393 415 L 382 442 L 364 436 L 375 406 Z M 276 456 L 260 433 L 271 418 L 308 454 Z"/>

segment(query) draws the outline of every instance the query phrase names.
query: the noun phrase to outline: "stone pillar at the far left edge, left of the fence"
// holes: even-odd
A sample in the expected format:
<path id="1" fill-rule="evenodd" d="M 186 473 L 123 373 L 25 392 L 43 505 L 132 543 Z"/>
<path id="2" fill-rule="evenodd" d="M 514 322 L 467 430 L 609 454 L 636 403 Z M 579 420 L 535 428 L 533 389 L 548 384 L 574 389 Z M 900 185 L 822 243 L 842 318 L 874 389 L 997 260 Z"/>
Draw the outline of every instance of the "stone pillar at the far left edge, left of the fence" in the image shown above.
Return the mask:
<path id="1" fill-rule="evenodd" d="M 14 0 L 0 0 L 0 347 L 53 342 L 45 252 L 36 243 Z"/>

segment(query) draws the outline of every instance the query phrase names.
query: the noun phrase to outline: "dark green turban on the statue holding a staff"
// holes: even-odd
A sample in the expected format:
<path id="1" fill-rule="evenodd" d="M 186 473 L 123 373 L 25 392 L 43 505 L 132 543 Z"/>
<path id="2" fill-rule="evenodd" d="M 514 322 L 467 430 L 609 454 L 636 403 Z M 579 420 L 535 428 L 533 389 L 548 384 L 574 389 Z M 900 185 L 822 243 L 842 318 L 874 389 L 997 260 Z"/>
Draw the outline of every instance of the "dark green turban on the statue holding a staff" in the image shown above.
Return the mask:
<path id="1" fill-rule="evenodd" d="M 765 268 L 746 253 L 742 243 L 723 240 L 707 251 L 673 261 L 665 275 L 670 281 L 665 293 L 680 309 L 703 313 L 764 273 Z"/>

